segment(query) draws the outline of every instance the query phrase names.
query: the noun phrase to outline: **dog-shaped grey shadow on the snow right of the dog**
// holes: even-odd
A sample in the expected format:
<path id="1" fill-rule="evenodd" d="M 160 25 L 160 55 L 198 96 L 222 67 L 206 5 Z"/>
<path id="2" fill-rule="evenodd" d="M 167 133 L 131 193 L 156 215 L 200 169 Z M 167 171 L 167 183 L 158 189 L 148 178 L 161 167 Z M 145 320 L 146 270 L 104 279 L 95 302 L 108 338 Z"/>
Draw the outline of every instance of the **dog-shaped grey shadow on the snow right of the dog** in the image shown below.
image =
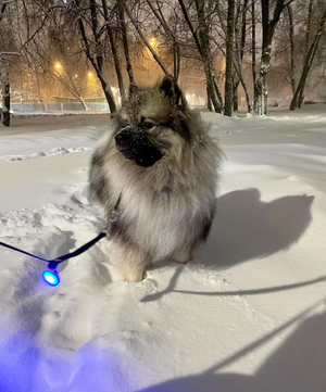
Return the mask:
<path id="1" fill-rule="evenodd" d="M 265 203 L 258 189 L 222 195 L 209 240 L 197 258 L 206 267 L 224 269 L 287 250 L 309 227 L 313 200 L 303 194 Z"/>

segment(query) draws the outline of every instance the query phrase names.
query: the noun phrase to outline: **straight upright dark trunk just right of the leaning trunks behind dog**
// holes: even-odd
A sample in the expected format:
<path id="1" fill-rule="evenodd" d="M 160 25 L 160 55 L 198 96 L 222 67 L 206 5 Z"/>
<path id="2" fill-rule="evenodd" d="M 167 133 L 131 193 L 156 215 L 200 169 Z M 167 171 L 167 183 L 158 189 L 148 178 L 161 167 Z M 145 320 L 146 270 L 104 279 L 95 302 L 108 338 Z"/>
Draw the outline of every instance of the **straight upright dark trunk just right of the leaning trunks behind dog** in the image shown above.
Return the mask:
<path id="1" fill-rule="evenodd" d="M 227 8 L 227 33 L 226 33 L 226 56 L 225 56 L 225 94 L 224 115 L 233 114 L 233 51 L 235 33 L 235 0 L 228 0 Z"/>

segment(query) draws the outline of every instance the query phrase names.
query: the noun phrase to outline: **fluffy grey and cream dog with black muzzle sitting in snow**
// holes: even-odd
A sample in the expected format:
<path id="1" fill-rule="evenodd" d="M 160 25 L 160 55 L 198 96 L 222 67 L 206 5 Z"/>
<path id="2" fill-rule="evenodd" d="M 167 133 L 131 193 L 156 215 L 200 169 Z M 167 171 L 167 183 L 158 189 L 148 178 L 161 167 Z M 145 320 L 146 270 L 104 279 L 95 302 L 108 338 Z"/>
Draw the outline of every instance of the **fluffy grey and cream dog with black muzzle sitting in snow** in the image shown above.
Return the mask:
<path id="1" fill-rule="evenodd" d="M 125 280 L 141 281 L 160 261 L 187 263 L 205 241 L 222 156 L 209 129 L 165 76 L 153 88 L 130 86 L 96 148 L 90 197 L 112 220 L 111 258 Z"/>

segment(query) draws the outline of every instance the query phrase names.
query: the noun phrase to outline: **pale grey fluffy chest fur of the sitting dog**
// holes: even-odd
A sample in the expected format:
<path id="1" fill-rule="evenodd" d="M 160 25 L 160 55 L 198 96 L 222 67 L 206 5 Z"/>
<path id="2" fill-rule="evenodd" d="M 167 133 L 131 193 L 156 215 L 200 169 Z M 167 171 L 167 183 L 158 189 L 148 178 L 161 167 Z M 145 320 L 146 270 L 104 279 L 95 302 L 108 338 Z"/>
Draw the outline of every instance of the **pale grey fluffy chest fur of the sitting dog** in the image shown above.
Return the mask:
<path id="1" fill-rule="evenodd" d="M 212 193 L 203 191 L 206 187 L 184 187 L 174 174 L 156 173 L 149 180 L 152 168 L 143 177 L 134 177 L 128 164 L 115 172 L 111 163 L 105 170 L 113 200 L 122 194 L 117 235 L 126 243 L 148 250 L 152 262 L 168 257 L 179 246 L 190 248 L 200 236 Z"/>

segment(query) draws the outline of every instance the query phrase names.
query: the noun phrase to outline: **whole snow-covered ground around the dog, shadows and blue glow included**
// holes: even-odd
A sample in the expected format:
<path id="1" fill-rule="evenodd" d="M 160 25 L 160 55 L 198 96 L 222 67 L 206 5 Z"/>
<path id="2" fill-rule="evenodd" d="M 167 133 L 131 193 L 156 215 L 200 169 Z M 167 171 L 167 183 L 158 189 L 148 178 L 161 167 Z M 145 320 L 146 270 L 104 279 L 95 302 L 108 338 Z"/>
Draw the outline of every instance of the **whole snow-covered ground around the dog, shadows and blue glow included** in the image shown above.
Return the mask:
<path id="1" fill-rule="evenodd" d="M 226 160 L 192 263 L 124 282 L 102 240 L 51 288 L 0 248 L 1 392 L 325 392 L 326 106 L 203 115 Z M 96 237 L 87 166 L 108 122 L 0 128 L 0 241 L 50 258 Z"/>

